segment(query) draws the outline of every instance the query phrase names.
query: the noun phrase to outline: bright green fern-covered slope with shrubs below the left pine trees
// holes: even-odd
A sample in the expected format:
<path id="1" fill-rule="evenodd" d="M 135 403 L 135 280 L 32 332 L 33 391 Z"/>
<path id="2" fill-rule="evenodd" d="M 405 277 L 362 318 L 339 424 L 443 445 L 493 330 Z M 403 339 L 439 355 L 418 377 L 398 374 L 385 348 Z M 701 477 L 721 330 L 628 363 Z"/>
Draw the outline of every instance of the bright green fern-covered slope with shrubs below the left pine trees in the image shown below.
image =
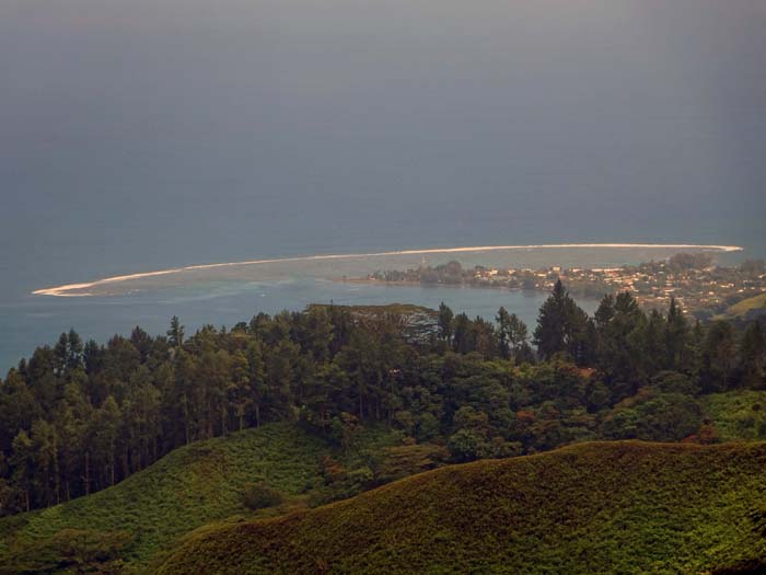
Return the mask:
<path id="1" fill-rule="evenodd" d="M 323 487 L 323 458 L 355 469 L 370 452 L 401 442 L 399 437 L 386 428 L 367 428 L 341 452 L 297 424 L 279 423 L 190 444 L 114 487 L 1 518 L 0 574 L 103 565 L 109 563 L 104 549 L 116 560 L 112 567 L 141 572 L 177 538 L 211 521 L 280 515 L 332 498 L 334 493 Z M 243 493 L 254 483 L 279 491 L 283 503 L 247 509 Z"/>

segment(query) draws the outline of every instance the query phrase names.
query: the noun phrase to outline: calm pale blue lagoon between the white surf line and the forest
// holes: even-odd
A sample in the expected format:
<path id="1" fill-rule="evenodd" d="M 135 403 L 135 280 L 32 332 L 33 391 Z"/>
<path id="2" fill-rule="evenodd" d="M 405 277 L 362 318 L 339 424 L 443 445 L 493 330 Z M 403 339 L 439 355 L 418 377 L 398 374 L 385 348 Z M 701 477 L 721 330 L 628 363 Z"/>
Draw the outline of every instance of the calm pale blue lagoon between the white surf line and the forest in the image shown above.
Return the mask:
<path id="1" fill-rule="evenodd" d="M 40 344 L 55 343 L 61 331 L 76 329 L 83 338 L 105 342 L 139 325 L 163 334 L 172 315 L 189 332 L 205 324 L 231 327 L 258 312 L 302 310 L 310 303 L 416 303 L 436 309 L 443 301 L 455 312 L 492 321 L 502 306 L 532 331 L 547 294 L 527 290 L 451 286 L 386 285 L 348 281 L 385 269 L 406 269 L 460 261 L 499 267 L 564 265 L 604 267 L 668 257 L 681 246 L 512 246 L 428 250 L 365 255 L 320 255 L 266 262 L 228 263 L 192 269 L 144 271 L 26 294 L 0 306 L 0 366 L 12 365 Z M 730 250 L 730 251 L 726 251 Z M 707 249 L 721 263 L 741 257 L 733 249 Z M 596 299 L 580 299 L 592 313 Z"/>

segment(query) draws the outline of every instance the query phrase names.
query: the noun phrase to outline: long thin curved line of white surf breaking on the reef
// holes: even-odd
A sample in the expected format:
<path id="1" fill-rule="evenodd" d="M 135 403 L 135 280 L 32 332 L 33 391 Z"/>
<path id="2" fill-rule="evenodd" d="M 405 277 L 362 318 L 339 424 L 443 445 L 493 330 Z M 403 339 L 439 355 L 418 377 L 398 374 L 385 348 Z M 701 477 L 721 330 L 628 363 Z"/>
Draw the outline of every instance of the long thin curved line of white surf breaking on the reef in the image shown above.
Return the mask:
<path id="1" fill-rule="evenodd" d="M 373 252 L 373 253 L 357 253 L 357 254 L 324 254 L 324 255 L 302 255 L 295 257 L 277 257 L 271 260 L 249 260 L 244 262 L 224 262 L 220 264 L 198 264 L 184 267 L 173 267 L 170 269 L 158 269 L 155 272 L 141 272 L 138 274 L 129 274 L 124 276 L 106 277 L 83 284 L 68 284 L 65 286 L 55 286 L 44 289 L 37 289 L 32 294 L 36 296 L 56 296 L 56 297 L 86 297 L 93 296 L 93 292 L 86 291 L 94 287 L 114 285 L 121 281 L 130 281 L 132 279 L 142 279 L 147 277 L 169 276 L 183 272 L 195 272 L 200 269 L 214 269 L 221 267 L 241 267 L 258 264 L 280 264 L 288 262 L 314 262 L 320 260 L 351 260 L 364 257 L 382 257 L 392 255 L 427 255 L 427 254 L 444 254 L 444 253 L 461 253 L 461 252 L 494 252 L 508 250 L 556 250 L 567 248 L 605 248 L 605 249 L 657 249 L 657 250 L 705 250 L 713 252 L 740 252 L 742 248 L 739 245 L 705 245 L 690 243 L 543 243 L 529 245 L 475 245 L 468 248 L 432 248 L 426 250 L 401 250 L 395 252 Z"/>

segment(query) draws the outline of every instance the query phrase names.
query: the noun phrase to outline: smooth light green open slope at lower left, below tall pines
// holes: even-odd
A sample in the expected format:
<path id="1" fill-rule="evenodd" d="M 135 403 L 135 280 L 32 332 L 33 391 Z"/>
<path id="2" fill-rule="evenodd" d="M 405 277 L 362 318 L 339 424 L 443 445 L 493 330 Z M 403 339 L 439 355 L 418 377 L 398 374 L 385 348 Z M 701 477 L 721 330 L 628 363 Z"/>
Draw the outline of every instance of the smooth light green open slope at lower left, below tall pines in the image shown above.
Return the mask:
<path id="1" fill-rule="evenodd" d="M 179 534 L 245 513 L 242 491 L 249 482 L 265 481 L 288 495 L 300 493 L 318 476 L 318 458 L 328 451 L 321 439 L 289 424 L 192 444 L 114 487 L 1 519 L 0 565 L 15 565 L 11 571 L 18 572 L 56 564 L 53 550 L 50 557 L 39 550 L 57 533 L 95 537 L 93 544 L 119 534 L 125 539 L 123 559 L 140 564 Z"/>

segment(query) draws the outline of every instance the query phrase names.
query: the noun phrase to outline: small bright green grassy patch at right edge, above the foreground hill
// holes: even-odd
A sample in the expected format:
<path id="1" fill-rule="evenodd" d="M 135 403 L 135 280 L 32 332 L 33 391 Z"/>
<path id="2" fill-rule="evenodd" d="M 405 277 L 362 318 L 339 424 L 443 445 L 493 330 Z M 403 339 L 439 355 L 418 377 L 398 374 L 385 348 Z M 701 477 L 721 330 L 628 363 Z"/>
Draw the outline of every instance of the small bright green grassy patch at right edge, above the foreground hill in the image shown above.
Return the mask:
<path id="1" fill-rule="evenodd" d="M 766 439 L 766 391 L 729 391 L 700 398 L 721 441 Z"/>

